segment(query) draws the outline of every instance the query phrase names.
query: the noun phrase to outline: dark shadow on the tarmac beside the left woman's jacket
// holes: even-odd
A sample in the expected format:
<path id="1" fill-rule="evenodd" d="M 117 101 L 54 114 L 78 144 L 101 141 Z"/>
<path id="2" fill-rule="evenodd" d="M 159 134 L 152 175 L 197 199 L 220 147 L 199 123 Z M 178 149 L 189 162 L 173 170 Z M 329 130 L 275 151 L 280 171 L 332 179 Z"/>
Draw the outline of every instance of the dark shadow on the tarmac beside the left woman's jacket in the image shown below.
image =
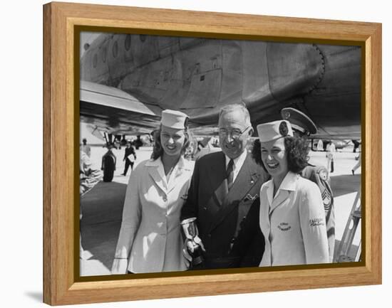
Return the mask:
<path id="1" fill-rule="evenodd" d="M 90 260 L 99 260 L 108 270 L 120 232 L 126 188 L 125 184 L 101 181 L 81 197 L 83 249 L 93 254 Z"/>

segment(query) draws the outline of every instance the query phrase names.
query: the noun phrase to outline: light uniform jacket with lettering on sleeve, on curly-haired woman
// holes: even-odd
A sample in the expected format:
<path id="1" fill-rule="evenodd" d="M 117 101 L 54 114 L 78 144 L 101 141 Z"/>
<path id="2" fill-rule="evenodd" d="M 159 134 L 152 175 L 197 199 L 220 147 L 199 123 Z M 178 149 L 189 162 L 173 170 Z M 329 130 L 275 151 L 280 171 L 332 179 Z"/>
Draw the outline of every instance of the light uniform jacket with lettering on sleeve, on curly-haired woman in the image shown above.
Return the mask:
<path id="1" fill-rule="evenodd" d="M 274 183 L 260 189 L 260 228 L 265 251 L 260 266 L 329 262 L 323 201 L 319 188 L 289 172 L 273 198 Z"/>

